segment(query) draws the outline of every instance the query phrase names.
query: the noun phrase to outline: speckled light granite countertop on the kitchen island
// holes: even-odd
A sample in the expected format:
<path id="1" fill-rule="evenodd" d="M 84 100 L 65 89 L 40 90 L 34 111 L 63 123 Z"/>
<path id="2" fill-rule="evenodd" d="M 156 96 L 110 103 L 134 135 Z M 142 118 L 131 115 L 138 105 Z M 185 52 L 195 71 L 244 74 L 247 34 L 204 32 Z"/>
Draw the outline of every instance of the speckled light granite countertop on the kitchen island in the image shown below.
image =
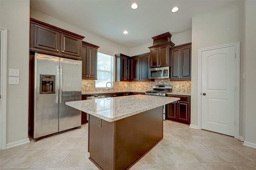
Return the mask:
<path id="1" fill-rule="evenodd" d="M 66 105 L 105 121 L 113 122 L 178 100 L 180 100 L 180 98 L 152 95 L 130 95 L 70 101 L 66 102 Z"/>

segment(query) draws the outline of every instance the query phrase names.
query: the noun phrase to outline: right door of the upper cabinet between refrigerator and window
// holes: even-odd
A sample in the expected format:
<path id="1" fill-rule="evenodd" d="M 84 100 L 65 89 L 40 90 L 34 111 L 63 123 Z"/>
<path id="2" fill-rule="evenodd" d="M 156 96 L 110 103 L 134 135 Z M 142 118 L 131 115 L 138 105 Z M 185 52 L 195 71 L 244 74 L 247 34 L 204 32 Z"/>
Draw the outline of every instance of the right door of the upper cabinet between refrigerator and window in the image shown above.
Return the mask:
<path id="1" fill-rule="evenodd" d="M 88 77 L 91 79 L 97 79 L 97 49 L 88 47 L 87 51 L 86 64 Z"/>

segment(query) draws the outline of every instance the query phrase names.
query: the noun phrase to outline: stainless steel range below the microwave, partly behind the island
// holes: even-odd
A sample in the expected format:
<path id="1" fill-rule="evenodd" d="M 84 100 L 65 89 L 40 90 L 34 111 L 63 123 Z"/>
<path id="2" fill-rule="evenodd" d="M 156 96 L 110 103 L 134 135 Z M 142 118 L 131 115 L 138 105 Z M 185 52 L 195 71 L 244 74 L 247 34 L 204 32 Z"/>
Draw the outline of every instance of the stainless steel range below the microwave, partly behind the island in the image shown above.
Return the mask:
<path id="1" fill-rule="evenodd" d="M 172 85 L 154 85 L 152 91 L 146 91 L 145 95 L 154 95 L 154 96 L 167 96 L 166 93 L 172 92 Z M 167 118 L 166 105 L 163 109 L 163 119 Z"/>

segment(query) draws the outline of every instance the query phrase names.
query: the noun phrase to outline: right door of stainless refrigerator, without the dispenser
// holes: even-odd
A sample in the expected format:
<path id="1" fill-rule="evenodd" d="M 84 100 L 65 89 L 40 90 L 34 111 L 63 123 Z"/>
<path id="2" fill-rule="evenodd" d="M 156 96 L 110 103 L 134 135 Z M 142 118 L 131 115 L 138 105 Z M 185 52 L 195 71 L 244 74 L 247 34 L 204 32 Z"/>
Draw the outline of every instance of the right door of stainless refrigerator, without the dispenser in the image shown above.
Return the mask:
<path id="1" fill-rule="evenodd" d="M 81 126 L 81 111 L 67 106 L 67 101 L 81 100 L 82 61 L 60 58 L 59 131 Z"/>

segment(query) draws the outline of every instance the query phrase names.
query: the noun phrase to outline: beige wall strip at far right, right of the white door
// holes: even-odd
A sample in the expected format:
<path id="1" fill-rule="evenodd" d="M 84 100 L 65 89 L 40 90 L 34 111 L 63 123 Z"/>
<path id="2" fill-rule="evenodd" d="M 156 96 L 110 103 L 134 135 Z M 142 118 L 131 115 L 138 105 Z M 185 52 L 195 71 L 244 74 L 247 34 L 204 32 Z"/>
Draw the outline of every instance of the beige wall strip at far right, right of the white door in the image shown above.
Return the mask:
<path id="1" fill-rule="evenodd" d="M 254 143 L 256 147 L 256 109 L 255 109 L 255 84 L 256 84 L 256 1 L 245 3 L 245 40 L 244 40 L 244 123 L 243 136 L 246 142 Z M 245 142 L 245 144 L 246 144 Z"/>

